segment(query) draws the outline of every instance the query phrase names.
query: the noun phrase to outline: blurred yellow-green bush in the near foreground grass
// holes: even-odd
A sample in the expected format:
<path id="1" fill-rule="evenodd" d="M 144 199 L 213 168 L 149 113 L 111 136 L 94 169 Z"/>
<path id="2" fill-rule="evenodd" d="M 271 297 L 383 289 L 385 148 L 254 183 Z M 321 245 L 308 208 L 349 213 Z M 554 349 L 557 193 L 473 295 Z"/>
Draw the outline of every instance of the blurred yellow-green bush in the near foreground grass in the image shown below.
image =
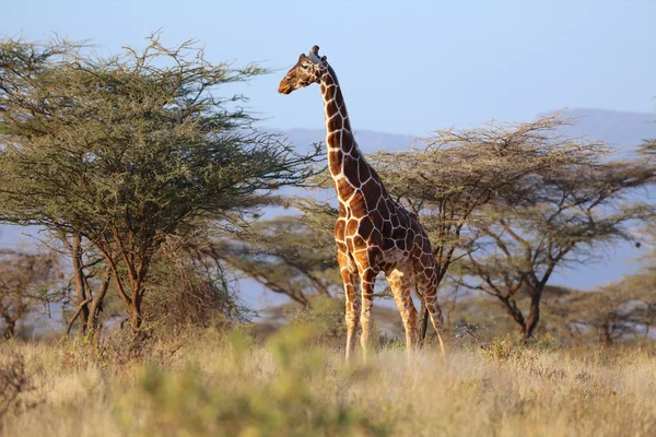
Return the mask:
<path id="1" fill-rule="evenodd" d="M 200 369 L 169 370 L 148 366 L 137 375 L 137 387 L 118 402 L 125 429 L 137 435 L 231 436 L 383 436 L 356 409 L 326 404 L 309 381 L 325 375 L 325 356 L 308 350 L 309 328 L 296 327 L 274 335 L 270 349 L 276 376 L 253 383 L 241 371 L 248 342 L 233 335 L 227 369 L 214 378 Z M 226 391 L 224 387 L 230 387 Z M 140 418 L 133 415 L 140 411 Z"/>

